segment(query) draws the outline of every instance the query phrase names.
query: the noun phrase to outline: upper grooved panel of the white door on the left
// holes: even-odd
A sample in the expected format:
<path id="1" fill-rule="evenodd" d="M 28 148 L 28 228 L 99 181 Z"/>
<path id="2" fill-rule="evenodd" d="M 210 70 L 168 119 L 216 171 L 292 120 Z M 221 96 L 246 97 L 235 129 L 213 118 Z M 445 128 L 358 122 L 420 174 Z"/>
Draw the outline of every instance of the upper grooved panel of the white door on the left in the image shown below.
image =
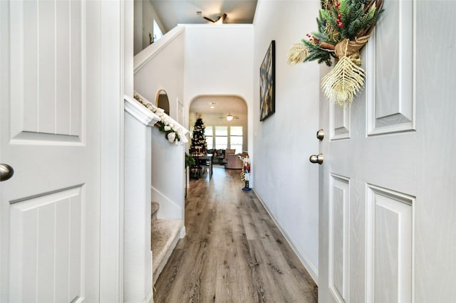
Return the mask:
<path id="1" fill-rule="evenodd" d="M 13 1 L 10 12 L 11 139 L 81 142 L 83 4 Z"/>

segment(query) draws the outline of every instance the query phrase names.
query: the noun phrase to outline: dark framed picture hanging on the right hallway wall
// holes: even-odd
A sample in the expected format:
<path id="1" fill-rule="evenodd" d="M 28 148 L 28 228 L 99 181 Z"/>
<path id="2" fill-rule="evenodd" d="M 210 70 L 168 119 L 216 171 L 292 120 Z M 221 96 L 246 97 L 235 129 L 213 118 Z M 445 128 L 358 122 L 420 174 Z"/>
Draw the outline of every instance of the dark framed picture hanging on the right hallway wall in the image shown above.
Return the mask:
<path id="1" fill-rule="evenodd" d="M 276 112 L 276 41 L 271 41 L 259 68 L 259 120 Z"/>

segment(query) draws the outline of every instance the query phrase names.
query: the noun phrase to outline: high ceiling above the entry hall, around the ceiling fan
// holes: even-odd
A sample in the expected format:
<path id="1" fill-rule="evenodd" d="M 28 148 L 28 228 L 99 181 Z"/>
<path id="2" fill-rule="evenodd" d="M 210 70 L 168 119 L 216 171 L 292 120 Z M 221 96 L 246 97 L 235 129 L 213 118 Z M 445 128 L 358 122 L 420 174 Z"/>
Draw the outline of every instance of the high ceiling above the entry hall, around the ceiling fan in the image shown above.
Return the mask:
<path id="1" fill-rule="evenodd" d="M 257 0 L 150 0 L 160 21 L 170 31 L 177 24 L 211 23 L 222 14 L 227 14 L 224 23 L 253 23 Z M 202 14 L 198 15 L 197 11 Z M 211 23 L 212 24 L 212 23 Z"/>

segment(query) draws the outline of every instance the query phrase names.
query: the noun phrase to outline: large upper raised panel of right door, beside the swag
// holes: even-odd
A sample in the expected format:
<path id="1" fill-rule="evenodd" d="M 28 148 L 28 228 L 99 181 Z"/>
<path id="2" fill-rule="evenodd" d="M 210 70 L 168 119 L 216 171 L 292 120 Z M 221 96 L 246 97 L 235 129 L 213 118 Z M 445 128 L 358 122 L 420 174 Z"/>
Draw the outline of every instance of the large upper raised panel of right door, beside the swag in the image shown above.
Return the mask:
<path id="1" fill-rule="evenodd" d="M 415 0 L 388 1 L 364 54 L 368 135 L 415 129 L 414 6 Z"/>

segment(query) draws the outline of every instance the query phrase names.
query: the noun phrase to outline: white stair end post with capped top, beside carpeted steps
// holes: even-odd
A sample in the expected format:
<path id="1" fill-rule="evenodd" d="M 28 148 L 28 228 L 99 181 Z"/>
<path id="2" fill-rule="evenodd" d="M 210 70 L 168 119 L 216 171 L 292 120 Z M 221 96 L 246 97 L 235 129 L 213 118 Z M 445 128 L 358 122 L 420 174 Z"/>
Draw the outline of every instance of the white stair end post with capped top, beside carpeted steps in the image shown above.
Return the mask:
<path id="1" fill-rule="evenodd" d="M 159 120 L 125 97 L 124 302 L 152 302 L 151 139 Z"/>

